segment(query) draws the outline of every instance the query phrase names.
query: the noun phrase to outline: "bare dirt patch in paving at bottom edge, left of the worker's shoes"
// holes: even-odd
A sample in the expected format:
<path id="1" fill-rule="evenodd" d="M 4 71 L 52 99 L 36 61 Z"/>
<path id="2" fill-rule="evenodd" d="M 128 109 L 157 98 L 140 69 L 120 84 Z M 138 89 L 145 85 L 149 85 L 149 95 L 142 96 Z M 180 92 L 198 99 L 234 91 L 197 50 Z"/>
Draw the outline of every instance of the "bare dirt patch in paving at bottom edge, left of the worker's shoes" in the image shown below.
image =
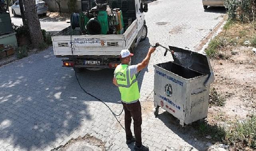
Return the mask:
<path id="1" fill-rule="evenodd" d="M 84 137 L 71 138 L 65 145 L 61 145 L 51 151 L 105 151 L 105 143 L 89 134 Z"/>

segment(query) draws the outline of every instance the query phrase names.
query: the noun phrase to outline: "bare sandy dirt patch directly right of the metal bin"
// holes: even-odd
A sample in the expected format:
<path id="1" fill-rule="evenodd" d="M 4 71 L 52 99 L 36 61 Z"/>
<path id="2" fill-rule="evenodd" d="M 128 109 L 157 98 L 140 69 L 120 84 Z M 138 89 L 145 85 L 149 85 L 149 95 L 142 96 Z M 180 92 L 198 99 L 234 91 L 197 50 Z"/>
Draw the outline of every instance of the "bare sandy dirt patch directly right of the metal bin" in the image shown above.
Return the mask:
<path id="1" fill-rule="evenodd" d="M 211 87 L 226 98 L 223 107 L 209 108 L 212 122 L 244 119 L 256 112 L 256 54 L 246 46 L 226 49 L 226 53 L 231 54 L 228 60 L 211 60 L 215 75 Z"/>

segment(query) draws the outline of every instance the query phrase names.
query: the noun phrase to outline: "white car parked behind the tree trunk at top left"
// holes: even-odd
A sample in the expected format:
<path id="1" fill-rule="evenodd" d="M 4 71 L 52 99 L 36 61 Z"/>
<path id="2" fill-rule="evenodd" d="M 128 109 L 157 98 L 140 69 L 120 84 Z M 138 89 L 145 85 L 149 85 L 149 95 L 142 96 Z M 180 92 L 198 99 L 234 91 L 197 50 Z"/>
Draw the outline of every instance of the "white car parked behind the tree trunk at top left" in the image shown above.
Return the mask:
<path id="1" fill-rule="evenodd" d="M 11 6 L 11 9 L 12 9 L 12 14 L 14 16 L 21 15 L 19 1 L 16 1 Z M 36 0 L 36 11 L 37 11 L 37 14 L 46 15 L 46 12 L 48 11 L 48 5 L 42 0 Z"/>

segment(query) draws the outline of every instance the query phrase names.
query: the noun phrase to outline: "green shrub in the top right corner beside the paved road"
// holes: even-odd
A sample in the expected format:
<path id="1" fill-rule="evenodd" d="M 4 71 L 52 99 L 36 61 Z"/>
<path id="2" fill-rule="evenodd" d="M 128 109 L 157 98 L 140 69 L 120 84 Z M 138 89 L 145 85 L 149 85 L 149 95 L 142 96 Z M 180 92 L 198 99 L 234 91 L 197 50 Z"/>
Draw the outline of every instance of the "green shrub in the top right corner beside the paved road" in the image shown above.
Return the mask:
<path id="1" fill-rule="evenodd" d="M 250 22 L 255 15 L 253 0 L 225 0 L 228 18 L 233 21 Z M 253 14 L 254 13 L 254 14 Z"/>

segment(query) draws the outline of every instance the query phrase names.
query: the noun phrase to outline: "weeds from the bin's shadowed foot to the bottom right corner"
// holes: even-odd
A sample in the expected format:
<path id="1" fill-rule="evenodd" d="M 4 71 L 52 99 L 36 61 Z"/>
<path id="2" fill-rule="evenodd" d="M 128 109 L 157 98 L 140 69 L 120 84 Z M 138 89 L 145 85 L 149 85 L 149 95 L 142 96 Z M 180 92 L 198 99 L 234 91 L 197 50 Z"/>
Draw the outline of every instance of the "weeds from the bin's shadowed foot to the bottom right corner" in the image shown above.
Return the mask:
<path id="1" fill-rule="evenodd" d="M 244 120 L 235 120 L 228 123 L 228 127 L 223 127 L 202 122 L 196 127 L 198 136 L 203 138 L 211 136 L 215 142 L 229 144 L 237 151 L 244 151 L 246 147 L 256 150 L 255 115 Z"/>

